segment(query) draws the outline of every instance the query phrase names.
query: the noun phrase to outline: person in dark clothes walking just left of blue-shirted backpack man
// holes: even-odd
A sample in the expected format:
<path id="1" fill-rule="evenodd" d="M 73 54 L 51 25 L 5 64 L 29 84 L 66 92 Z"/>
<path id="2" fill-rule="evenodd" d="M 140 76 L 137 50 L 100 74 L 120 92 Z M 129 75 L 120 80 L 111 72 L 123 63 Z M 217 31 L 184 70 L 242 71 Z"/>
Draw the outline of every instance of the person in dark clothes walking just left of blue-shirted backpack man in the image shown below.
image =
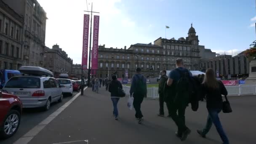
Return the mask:
<path id="1" fill-rule="evenodd" d="M 166 75 L 166 71 L 163 70 L 160 72 L 161 74 L 161 77 L 160 77 L 160 81 L 159 81 L 159 85 L 158 85 L 158 93 L 159 93 L 159 113 L 158 113 L 158 116 L 160 117 L 163 117 L 165 116 L 165 113 L 164 113 L 164 86 L 165 86 L 165 83 L 166 81 L 168 80 L 168 77 Z"/>

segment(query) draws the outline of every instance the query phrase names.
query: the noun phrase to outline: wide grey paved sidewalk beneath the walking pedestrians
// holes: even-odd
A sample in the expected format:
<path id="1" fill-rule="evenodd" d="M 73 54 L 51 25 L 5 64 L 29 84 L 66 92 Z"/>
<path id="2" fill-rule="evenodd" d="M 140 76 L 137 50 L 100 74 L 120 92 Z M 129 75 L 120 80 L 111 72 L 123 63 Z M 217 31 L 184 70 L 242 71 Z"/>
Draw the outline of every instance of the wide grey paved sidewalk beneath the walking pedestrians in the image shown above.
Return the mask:
<path id="1" fill-rule="evenodd" d="M 187 126 L 191 128 L 192 133 L 186 141 L 181 142 L 175 136 L 177 128 L 172 119 L 157 116 L 157 100 L 144 99 L 141 109 L 145 119 L 142 125 L 137 123 L 134 110 L 129 110 L 126 102 L 127 98 L 120 99 L 118 104 L 120 117 L 116 121 L 112 116 L 110 93 L 105 90 L 105 87 L 99 88 L 99 93 L 94 93 L 91 88 L 87 88 L 84 96 L 78 96 L 29 144 L 87 144 L 85 140 L 88 140 L 88 144 L 221 144 L 221 139 L 214 126 L 207 139 L 201 138 L 196 133 L 196 130 L 203 128 L 206 123 L 205 103 L 200 103 L 200 109 L 197 112 L 192 112 L 190 107 L 187 108 Z M 165 114 L 168 114 L 166 107 Z M 239 115 L 237 117 L 240 117 Z M 254 140 L 253 136 L 248 139 L 247 134 L 239 135 L 243 132 L 236 132 L 236 129 L 242 130 L 243 128 L 237 128 L 238 125 L 234 129 L 235 123 L 230 122 L 230 118 L 235 117 L 231 117 L 229 114 L 225 114 L 225 116 L 221 114 L 220 117 L 230 143 L 251 144 L 249 141 Z M 248 130 L 245 131 L 248 132 Z M 77 142 L 67 143 L 68 141 Z"/>

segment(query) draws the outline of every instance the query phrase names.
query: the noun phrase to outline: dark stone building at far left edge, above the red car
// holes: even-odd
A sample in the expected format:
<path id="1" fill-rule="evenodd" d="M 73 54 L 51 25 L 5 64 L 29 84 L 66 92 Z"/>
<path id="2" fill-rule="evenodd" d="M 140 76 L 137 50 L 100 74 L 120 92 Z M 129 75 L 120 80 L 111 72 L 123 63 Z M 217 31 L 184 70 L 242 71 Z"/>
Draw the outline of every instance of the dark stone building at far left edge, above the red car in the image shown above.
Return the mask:
<path id="1" fill-rule="evenodd" d="M 22 17 L 0 0 L 0 69 L 19 69 L 23 64 L 23 24 Z"/>

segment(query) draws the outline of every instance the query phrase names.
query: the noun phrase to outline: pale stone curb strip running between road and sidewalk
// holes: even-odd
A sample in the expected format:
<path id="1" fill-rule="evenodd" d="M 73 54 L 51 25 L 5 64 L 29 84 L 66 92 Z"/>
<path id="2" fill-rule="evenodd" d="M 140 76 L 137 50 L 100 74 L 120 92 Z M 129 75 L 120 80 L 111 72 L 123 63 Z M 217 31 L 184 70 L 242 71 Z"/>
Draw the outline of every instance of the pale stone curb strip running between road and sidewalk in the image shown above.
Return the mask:
<path id="1" fill-rule="evenodd" d="M 85 90 L 88 87 L 85 87 Z M 81 92 L 77 93 L 72 99 L 63 104 L 59 109 L 53 112 L 51 115 L 46 117 L 43 121 L 37 124 L 34 128 L 29 130 L 26 134 L 24 134 L 21 138 L 15 141 L 13 144 L 28 144 L 34 136 L 36 136 L 46 125 L 48 125 L 55 117 L 57 117 L 64 109 L 66 109 L 69 104 L 71 104 L 75 99 L 80 96 Z"/>

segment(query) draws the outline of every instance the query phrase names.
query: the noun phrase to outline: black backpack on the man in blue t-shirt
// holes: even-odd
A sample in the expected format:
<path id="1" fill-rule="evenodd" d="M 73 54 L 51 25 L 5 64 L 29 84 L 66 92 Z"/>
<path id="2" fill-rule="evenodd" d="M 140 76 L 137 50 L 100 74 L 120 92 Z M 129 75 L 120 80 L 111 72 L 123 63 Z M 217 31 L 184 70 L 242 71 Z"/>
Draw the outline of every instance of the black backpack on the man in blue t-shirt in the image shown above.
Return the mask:
<path id="1" fill-rule="evenodd" d="M 179 72 L 180 79 L 176 83 L 175 101 L 180 104 L 191 104 L 191 109 L 197 111 L 199 107 L 199 85 L 196 83 L 195 77 L 189 76 L 189 71 L 182 72 L 180 69 L 175 69 Z"/>

